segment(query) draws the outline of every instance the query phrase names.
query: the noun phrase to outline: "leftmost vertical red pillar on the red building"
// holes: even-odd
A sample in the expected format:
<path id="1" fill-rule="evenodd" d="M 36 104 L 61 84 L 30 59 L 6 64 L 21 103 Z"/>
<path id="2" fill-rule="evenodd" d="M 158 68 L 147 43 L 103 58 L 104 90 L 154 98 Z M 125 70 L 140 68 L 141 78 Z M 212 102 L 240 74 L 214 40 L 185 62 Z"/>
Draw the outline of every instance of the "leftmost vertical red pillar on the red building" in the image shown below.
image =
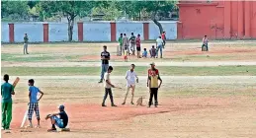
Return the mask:
<path id="1" fill-rule="evenodd" d="M 230 38 L 231 33 L 231 1 L 224 1 L 224 38 Z"/>

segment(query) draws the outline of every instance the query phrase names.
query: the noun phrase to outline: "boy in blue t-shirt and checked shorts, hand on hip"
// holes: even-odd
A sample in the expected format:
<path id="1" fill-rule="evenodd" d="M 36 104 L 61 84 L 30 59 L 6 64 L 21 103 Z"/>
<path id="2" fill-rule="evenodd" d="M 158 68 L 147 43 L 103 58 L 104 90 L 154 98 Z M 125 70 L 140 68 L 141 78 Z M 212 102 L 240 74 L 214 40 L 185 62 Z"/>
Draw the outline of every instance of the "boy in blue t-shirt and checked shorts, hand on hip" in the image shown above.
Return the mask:
<path id="1" fill-rule="evenodd" d="M 38 119 L 38 125 L 36 126 L 36 128 L 40 128 L 40 108 L 39 108 L 39 101 L 42 99 L 43 97 L 43 92 L 34 86 L 35 81 L 33 79 L 29 80 L 29 99 L 30 99 L 30 103 L 29 103 L 29 111 L 28 111 L 28 118 L 30 120 L 30 125 L 28 127 L 33 127 L 32 125 L 32 116 L 34 113 L 34 110 L 36 111 L 36 115 L 37 115 L 37 119 Z M 38 99 L 38 93 L 41 94 L 40 99 Z"/>

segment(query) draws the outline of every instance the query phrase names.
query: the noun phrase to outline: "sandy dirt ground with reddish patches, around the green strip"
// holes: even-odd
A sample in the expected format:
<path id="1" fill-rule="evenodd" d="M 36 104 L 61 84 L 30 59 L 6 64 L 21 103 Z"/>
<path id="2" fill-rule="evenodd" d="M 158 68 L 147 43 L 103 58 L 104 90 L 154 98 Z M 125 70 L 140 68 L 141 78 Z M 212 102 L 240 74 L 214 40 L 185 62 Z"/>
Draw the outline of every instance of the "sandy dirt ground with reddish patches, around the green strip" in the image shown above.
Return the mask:
<path id="1" fill-rule="evenodd" d="M 210 52 L 201 52 L 200 43 L 168 43 L 164 59 L 155 62 L 187 61 L 255 61 L 253 42 L 216 42 Z M 31 54 L 23 55 L 21 46 L 2 47 L 2 67 L 11 64 L 42 65 L 48 62 L 98 62 L 102 43 L 35 44 Z M 122 61 L 115 56 L 116 43 L 108 43 L 113 62 Z M 147 49 L 152 43 L 143 43 Z M 232 45 L 234 47 L 232 47 Z M 11 54 L 10 54 L 11 53 Z M 208 57 L 208 55 L 210 57 Z M 213 57 L 213 58 L 212 58 Z M 255 57 L 255 58 L 254 58 Z M 130 62 L 148 62 L 149 59 L 130 58 Z M 152 59 L 150 59 L 152 60 Z M 44 62 L 44 63 L 43 63 Z M 39 66 L 40 67 L 40 66 Z M 98 69 L 98 67 L 95 67 Z M 12 76 L 12 74 L 10 74 Z M 13 97 L 11 133 L 2 131 L 3 138 L 255 138 L 256 137 L 256 78 L 255 76 L 163 76 L 157 108 L 121 105 L 125 90 L 114 90 L 115 103 L 102 107 L 103 89 L 98 76 L 20 76 L 21 82 Z M 19 128 L 28 103 L 30 78 L 36 80 L 45 95 L 40 103 L 42 128 L 21 132 Z M 113 82 L 125 88 L 126 80 L 115 77 Z M 13 76 L 10 80 L 15 79 Z M 135 99 L 143 96 L 147 104 L 148 90 L 145 77 L 141 78 Z M 129 102 L 129 97 L 128 97 Z M 128 103 L 127 102 L 127 103 Z M 58 104 L 65 104 L 69 114 L 70 132 L 46 132 L 49 121 L 43 117 L 56 112 Z M 36 124 L 36 118 L 34 118 Z"/>

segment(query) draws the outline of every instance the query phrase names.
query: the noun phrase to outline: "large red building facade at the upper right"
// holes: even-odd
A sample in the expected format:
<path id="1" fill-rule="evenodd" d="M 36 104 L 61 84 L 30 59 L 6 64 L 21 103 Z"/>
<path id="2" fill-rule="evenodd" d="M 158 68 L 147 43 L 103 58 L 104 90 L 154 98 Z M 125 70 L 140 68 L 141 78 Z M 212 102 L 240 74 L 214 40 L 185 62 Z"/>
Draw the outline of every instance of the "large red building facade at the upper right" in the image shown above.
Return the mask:
<path id="1" fill-rule="evenodd" d="M 256 1 L 180 1 L 178 39 L 256 38 Z"/>

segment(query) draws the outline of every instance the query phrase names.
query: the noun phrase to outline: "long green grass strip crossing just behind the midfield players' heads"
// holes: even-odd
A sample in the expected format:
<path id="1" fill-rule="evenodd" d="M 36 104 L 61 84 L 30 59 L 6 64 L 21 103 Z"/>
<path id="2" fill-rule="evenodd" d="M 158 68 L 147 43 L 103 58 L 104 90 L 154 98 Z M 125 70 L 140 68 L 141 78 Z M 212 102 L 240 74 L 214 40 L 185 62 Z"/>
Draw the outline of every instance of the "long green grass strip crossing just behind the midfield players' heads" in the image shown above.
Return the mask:
<path id="1" fill-rule="evenodd" d="M 157 67 L 169 76 L 255 76 L 256 66 Z M 137 66 L 137 75 L 146 75 L 148 67 Z M 127 66 L 114 67 L 113 75 L 125 75 Z M 16 76 L 99 75 L 100 67 L 2 67 L 2 74 Z"/>

